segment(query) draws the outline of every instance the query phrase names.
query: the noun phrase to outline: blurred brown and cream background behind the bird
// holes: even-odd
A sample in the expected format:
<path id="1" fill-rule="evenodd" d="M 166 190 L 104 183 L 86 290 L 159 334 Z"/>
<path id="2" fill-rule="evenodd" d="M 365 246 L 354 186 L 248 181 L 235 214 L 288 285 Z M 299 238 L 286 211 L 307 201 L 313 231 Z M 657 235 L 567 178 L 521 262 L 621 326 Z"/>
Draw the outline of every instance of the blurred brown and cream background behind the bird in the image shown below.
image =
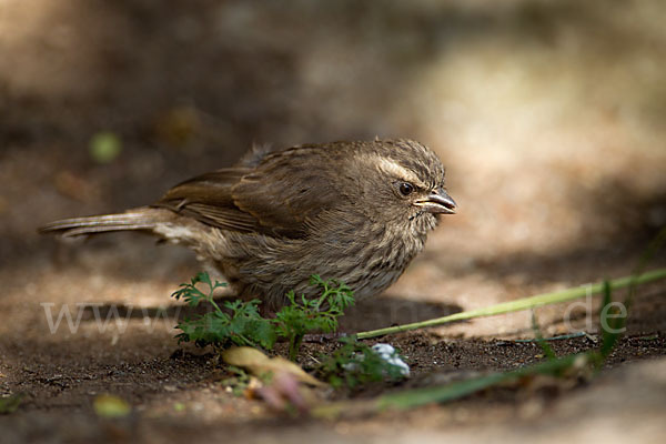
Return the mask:
<path id="1" fill-rule="evenodd" d="M 389 295 L 474 309 L 627 274 L 666 223 L 665 20 L 660 0 L 0 0 L 0 274 L 14 302 L 169 303 L 192 254 L 63 253 L 36 228 L 253 143 L 375 135 L 435 150 L 460 205 Z"/>

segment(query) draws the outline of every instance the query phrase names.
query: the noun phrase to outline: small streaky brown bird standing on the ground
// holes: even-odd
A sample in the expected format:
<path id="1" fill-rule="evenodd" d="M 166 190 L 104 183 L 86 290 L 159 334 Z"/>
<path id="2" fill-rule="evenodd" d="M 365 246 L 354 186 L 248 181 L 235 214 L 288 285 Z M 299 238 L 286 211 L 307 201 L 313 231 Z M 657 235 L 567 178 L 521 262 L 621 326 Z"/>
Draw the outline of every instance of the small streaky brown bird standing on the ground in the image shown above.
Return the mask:
<path id="1" fill-rule="evenodd" d="M 333 142 L 254 150 L 152 205 L 40 231 L 149 232 L 211 261 L 239 296 L 279 307 L 289 290 L 313 296 L 312 274 L 346 283 L 357 300 L 382 292 L 455 208 L 442 162 L 421 143 Z"/>

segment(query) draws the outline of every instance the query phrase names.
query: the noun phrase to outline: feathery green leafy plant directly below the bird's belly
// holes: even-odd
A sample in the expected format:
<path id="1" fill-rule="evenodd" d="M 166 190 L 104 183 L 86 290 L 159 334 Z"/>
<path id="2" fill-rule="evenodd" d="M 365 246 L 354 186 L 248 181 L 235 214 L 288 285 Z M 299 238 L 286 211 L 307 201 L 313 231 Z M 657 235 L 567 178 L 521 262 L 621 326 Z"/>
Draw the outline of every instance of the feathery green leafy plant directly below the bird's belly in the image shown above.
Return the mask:
<path id="1" fill-rule="evenodd" d="M 198 284 L 204 284 L 208 290 L 199 290 Z M 200 346 L 235 344 L 269 350 L 278 339 L 285 339 L 289 341 L 289 355 L 293 361 L 306 333 L 334 332 L 337 329 L 337 317 L 354 303 L 352 291 L 343 283 L 324 281 L 319 275 L 313 275 L 311 284 L 321 289 L 321 296 L 312 300 L 304 295 L 296 297 L 291 291 L 286 294 L 289 304 L 275 314 L 275 319 L 265 319 L 259 313 L 259 300 L 228 301 L 222 307 L 218 305 L 213 293 L 226 284 L 218 281 L 213 283 L 208 273 L 199 273 L 190 283 L 181 284 L 181 289 L 172 296 L 184 300 L 191 306 L 208 302 L 213 310 L 179 323 L 178 329 L 182 330 L 182 333 L 176 337 L 179 342 L 193 341 Z"/>

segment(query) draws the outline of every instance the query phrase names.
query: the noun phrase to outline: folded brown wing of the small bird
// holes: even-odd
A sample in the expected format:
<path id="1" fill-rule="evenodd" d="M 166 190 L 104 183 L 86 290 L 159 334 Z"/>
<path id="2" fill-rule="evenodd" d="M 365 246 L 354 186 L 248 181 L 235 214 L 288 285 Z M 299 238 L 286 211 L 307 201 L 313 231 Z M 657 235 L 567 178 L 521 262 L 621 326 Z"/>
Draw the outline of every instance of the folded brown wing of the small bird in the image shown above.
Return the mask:
<path id="1" fill-rule="evenodd" d="M 300 149 L 269 155 L 254 169 L 206 173 L 174 186 L 155 205 L 224 230 L 301 238 L 309 221 L 336 201 L 320 154 Z"/>

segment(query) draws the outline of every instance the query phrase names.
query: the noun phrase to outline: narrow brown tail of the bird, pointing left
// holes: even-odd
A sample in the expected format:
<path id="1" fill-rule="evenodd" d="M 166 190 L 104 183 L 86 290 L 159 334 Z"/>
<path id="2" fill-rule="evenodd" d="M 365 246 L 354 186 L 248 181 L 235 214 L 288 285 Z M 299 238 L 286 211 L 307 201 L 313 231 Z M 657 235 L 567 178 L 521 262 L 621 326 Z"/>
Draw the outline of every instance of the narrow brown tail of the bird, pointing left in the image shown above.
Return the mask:
<path id="1" fill-rule="evenodd" d="M 42 234 L 60 234 L 63 238 L 74 238 L 110 231 L 153 231 L 158 223 L 163 221 L 163 210 L 142 206 L 118 214 L 63 219 L 41 226 L 39 232 Z"/>

